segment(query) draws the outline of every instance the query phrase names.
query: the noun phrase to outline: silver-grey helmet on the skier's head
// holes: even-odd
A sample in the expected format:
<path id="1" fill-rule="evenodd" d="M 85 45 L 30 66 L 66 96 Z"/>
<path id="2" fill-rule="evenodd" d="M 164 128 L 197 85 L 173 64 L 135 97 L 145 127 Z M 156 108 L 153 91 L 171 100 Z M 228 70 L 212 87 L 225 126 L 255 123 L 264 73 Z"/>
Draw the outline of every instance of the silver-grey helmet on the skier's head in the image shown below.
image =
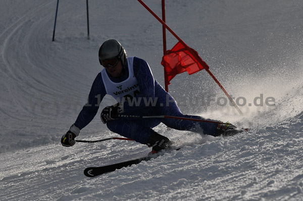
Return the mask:
<path id="1" fill-rule="evenodd" d="M 126 52 L 121 43 L 115 39 L 106 40 L 99 48 L 99 61 L 110 58 L 121 59 L 122 65 L 126 64 Z"/>

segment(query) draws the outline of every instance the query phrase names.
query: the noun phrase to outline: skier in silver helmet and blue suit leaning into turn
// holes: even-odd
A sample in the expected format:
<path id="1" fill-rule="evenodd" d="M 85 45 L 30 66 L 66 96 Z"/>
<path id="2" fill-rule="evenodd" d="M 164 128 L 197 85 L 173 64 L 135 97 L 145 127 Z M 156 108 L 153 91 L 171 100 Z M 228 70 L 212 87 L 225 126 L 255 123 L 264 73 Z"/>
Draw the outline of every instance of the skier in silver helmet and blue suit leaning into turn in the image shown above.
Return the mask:
<path id="1" fill-rule="evenodd" d="M 75 138 L 96 115 L 106 94 L 118 103 L 103 109 L 100 118 L 107 127 L 121 136 L 152 148 L 153 153 L 167 149 L 172 142 L 152 128 L 161 122 L 178 130 L 190 130 L 206 135 L 220 136 L 236 128 L 232 124 L 209 123 L 169 118 L 118 118 L 128 115 L 169 115 L 195 119 L 200 116 L 181 113 L 174 98 L 155 80 L 147 62 L 138 57 L 127 57 L 126 51 L 115 39 L 106 40 L 99 48 L 99 61 L 104 69 L 96 76 L 88 97 L 88 103 L 75 123 L 61 139 L 63 146 L 75 144 Z M 221 122 L 221 121 L 216 121 Z"/>

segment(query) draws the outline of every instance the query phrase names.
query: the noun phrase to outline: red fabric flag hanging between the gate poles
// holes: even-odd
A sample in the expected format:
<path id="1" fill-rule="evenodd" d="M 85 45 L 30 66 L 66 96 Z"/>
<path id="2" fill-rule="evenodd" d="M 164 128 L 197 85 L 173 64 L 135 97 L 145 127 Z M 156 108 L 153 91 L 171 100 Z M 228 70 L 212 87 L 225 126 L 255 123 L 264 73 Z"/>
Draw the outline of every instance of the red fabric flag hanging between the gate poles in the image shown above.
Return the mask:
<path id="1" fill-rule="evenodd" d="M 191 49 L 191 51 L 189 51 L 189 49 Z M 184 73 L 185 71 L 187 71 L 189 75 L 192 75 L 203 69 L 209 69 L 208 64 L 202 59 L 198 61 L 196 59 L 197 57 L 199 57 L 199 55 L 194 49 L 188 46 L 185 47 L 180 41 L 171 50 L 167 50 L 162 58 L 161 64 L 167 72 L 168 83 L 177 74 Z"/>

